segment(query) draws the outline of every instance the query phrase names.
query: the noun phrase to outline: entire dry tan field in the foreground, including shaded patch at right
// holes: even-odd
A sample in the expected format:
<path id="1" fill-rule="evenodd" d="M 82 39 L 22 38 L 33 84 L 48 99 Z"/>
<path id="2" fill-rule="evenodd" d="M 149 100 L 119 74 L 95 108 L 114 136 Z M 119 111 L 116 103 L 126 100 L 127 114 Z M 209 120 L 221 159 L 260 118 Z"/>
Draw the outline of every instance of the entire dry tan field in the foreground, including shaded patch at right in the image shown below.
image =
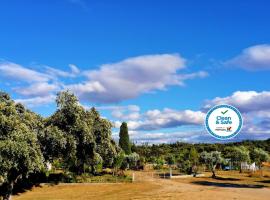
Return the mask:
<path id="1" fill-rule="evenodd" d="M 126 200 L 126 199 L 248 199 L 268 200 L 270 196 L 270 174 L 260 177 L 255 174 L 220 171 L 218 178 L 210 173 L 200 178 L 160 179 L 149 173 L 136 172 L 144 177 L 135 183 L 74 184 L 35 187 L 31 191 L 16 195 L 14 200 Z"/>

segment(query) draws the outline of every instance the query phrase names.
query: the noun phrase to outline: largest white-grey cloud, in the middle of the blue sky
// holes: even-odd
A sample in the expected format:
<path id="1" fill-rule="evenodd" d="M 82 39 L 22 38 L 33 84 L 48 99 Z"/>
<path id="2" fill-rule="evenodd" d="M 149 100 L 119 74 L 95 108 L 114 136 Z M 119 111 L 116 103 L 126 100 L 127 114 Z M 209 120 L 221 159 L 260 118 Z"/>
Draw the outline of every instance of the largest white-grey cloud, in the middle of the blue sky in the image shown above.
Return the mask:
<path id="1" fill-rule="evenodd" d="M 206 72 L 178 74 L 184 69 L 185 59 L 178 54 L 145 55 L 105 64 L 99 70 L 84 72 L 89 79 L 83 84 L 97 82 L 105 90 L 74 91 L 82 100 L 115 103 L 138 97 L 143 93 L 165 90 L 170 85 L 183 85 L 186 79 L 205 77 Z M 74 86 L 74 85 L 73 85 Z M 69 86 L 67 86 L 69 87 Z"/>

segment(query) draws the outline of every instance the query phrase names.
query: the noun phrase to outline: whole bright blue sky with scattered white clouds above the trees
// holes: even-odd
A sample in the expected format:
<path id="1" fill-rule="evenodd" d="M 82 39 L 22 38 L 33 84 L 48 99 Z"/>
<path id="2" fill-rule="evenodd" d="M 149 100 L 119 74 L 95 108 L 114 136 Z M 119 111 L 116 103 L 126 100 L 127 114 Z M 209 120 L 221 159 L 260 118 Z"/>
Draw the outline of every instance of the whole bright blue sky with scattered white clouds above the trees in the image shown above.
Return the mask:
<path id="1" fill-rule="evenodd" d="M 231 104 L 234 141 L 270 138 L 270 3 L 3 0 L 0 89 L 49 116 L 69 89 L 137 143 L 219 142 L 205 113 Z"/>

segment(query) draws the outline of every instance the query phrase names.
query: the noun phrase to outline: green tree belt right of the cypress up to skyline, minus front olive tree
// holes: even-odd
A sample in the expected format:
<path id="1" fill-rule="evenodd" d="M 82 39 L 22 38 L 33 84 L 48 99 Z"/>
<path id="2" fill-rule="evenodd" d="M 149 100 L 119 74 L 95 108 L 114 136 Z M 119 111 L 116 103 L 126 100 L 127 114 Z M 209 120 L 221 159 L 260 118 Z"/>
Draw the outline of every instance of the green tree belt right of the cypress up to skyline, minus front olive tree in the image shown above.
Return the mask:
<path id="1" fill-rule="evenodd" d="M 180 168 L 181 172 L 185 173 L 190 173 L 190 168 L 194 164 L 203 164 L 197 160 L 202 152 L 218 151 L 221 152 L 221 157 L 225 159 L 221 165 L 227 165 L 228 163 L 225 161 L 230 160 L 232 165 L 240 170 L 241 162 L 255 162 L 259 166 L 262 162 L 269 161 L 270 139 L 264 141 L 247 140 L 224 144 L 190 144 L 182 142 L 158 145 L 142 144 L 133 146 L 133 149 L 140 157 L 144 157 L 148 163 L 158 164 L 160 160 L 174 157 L 175 164 Z"/>

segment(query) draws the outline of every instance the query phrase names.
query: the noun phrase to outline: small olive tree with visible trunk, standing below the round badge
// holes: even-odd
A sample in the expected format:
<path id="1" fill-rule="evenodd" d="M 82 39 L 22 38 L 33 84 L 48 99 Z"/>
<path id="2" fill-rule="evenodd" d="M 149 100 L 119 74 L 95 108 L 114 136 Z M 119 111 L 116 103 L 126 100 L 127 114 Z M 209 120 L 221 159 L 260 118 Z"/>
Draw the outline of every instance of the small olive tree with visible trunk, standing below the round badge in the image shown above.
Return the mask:
<path id="1" fill-rule="evenodd" d="M 221 164 L 223 162 L 221 152 L 211 151 L 210 153 L 207 153 L 206 151 L 204 151 L 201 153 L 200 159 L 202 162 L 208 165 L 209 169 L 212 172 L 212 178 L 216 178 L 216 166 L 217 164 Z"/>

